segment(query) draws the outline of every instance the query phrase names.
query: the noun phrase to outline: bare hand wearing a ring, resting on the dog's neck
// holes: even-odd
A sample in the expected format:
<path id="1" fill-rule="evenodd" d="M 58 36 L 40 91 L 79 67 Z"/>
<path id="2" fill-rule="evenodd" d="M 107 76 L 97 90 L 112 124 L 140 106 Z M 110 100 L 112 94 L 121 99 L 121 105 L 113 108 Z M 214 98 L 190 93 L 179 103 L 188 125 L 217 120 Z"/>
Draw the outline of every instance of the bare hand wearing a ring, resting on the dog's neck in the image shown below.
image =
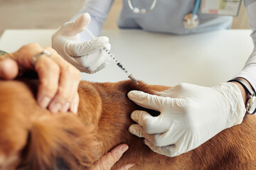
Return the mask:
<path id="1" fill-rule="evenodd" d="M 48 57 L 39 57 L 36 62 L 32 58 L 48 50 Z M 78 84 L 80 72 L 65 62 L 50 47 L 43 48 L 36 43 L 24 45 L 18 51 L 0 56 L 0 78 L 14 79 L 22 71 L 35 70 L 39 77 L 37 101 L 39 106 L 48 108 L 53 113 L 58 111 L 78 111 Z"/>

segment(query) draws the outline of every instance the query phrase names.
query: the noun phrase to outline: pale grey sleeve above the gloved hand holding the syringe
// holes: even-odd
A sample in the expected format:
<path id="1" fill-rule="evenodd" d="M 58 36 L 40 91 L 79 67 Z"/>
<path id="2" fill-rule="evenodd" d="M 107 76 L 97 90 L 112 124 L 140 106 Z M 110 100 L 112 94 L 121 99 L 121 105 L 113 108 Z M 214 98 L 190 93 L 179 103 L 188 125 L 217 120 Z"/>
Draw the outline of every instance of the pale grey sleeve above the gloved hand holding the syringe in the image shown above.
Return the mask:
<path id="1" fill-rule="evenodd" d="M 81 13 L 89 13 L 91 21 L 88 29 L 97 37 L 100 35 L 103 23 L 110 12 L 113 2 L 114 0 L 85 0 L 80 13 L 74 16 L 71 21 L 75 21 Z M 83 31 L 80 33 L 80 39 L 84 41 L 90 40 L 92 37 L 86 31 Z"/>

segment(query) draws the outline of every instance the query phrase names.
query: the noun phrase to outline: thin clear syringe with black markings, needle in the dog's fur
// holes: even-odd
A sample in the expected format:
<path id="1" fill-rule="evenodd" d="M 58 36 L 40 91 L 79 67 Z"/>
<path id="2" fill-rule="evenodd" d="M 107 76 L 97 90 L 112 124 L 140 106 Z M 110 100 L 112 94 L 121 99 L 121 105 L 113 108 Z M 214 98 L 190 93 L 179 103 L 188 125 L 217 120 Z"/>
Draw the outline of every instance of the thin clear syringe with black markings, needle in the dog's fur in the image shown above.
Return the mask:
<path id="1" fill-rule="evenodd" d="M 87 31 L 87 33 L 89 33 L 91 35 L 92 38 L 95 38 L 95 35 L 92 34 L 92 32 L 88 29 L 85 28 L 85 30 Z M 128 78 L 131 79 L 132 81 L 134 81 L 134 83 L 139 84 L 138 81 L 132 76 L 132 74 L 130 72 L 128 72 L 127 69 L 125 69 L 124 65 L 119 62 L 117 60 L 117 57 L 114 57 L 114 55 L 112 54 L 112 52 L 110 52 L 110 50 L 107 50 L 107 47 L 102 47 L 102 49 L 107 53 L 107 55 L 112 58 L 112 60 L 114 60 L 114 62 L 117 64 L 117 66 L 122 69 L 122 71 L 124 71 L 125 74 L 127 74 Z"/>

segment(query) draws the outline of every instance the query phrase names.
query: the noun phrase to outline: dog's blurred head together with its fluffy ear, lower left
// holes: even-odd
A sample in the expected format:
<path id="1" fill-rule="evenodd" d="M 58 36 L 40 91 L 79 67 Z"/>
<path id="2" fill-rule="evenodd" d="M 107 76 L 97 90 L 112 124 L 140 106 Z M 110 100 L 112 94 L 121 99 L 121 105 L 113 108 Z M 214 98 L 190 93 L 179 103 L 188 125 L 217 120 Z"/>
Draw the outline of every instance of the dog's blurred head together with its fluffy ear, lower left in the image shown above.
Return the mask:
<path id="1" fill-rule="evenodd" d="M 0 169 L 51 169 L 56 159 L 80 169 L 98 159 L 93 125 L 72 113 L 40 108 L 22 82 L 0 81 L 0 94 Z"/>

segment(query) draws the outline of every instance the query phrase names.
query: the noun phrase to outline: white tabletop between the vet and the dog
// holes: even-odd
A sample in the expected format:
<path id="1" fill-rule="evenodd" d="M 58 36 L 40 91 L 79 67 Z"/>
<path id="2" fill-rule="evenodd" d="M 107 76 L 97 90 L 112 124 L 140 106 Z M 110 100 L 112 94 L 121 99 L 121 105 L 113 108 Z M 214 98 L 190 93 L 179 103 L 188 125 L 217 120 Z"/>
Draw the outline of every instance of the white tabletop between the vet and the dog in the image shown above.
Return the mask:
<path id="1" fill-rule="evenodd" d="M 5 30 L 0 50 L 13 52 L 28 42 L 51 46 L 55 30 Z M 194 35 L 168 35 L 142 30 L 102 30 L 110 38 L 111 52 L 136 79 L 147 84 L 175 86 L 181 82 L 213 86 L 232 79 L 250 56 L 251 30 L 219 30 Z M 114 62 L 87 81 L 127 79 Z"/>

